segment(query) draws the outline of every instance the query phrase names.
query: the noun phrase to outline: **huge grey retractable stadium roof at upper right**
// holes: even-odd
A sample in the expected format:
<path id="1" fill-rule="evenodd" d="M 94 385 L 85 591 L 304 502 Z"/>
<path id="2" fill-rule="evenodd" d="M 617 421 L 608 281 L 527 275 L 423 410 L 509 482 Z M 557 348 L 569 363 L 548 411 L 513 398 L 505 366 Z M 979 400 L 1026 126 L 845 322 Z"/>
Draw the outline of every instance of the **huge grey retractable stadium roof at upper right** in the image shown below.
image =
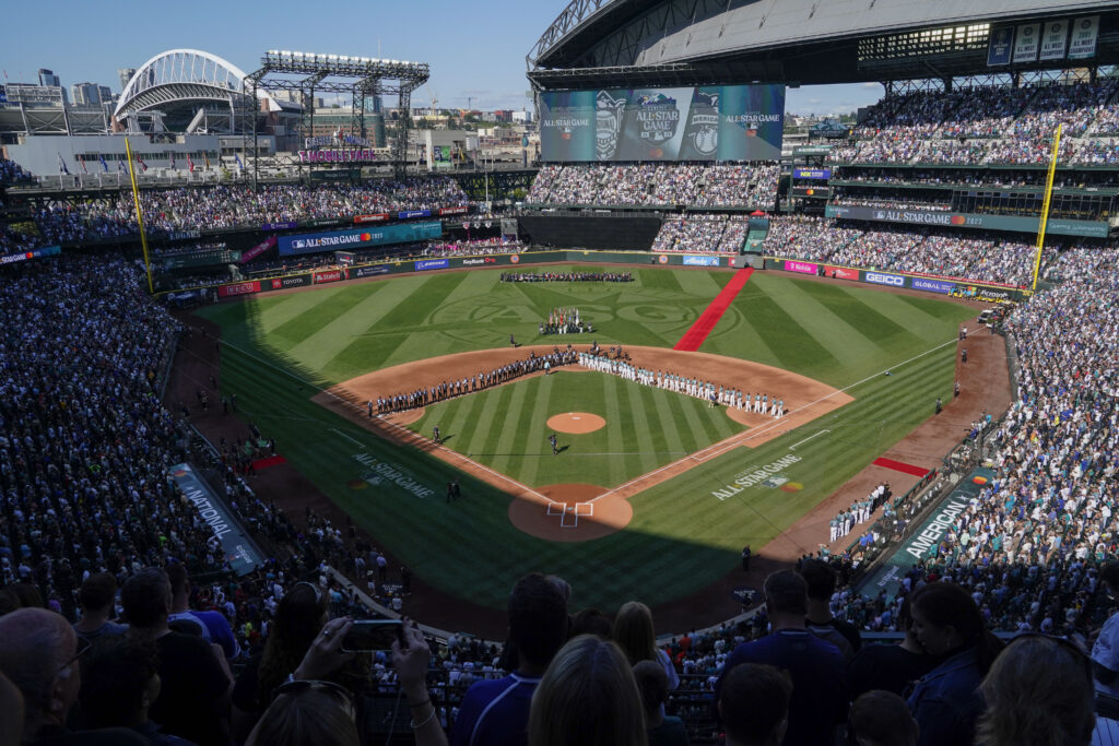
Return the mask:
<path id="1" fill-rule="evenodd" d="M 1101 16 L 1100 36 L 1097 56 L 1080 64 L 1119 63 L 1115 1 L 572 0 L 529 53 L 528 77 L 538 88 L 566 88 L 636 85 L 658 68 L 684 82 L 681 65 L 692 84 L 811 85 L 1004 73 L 1008 68 L 986 66 L 985 29 L 943 49 L 882 59 L 866 59 L 865 45 L 918 30 L 1084 15 Z"/>

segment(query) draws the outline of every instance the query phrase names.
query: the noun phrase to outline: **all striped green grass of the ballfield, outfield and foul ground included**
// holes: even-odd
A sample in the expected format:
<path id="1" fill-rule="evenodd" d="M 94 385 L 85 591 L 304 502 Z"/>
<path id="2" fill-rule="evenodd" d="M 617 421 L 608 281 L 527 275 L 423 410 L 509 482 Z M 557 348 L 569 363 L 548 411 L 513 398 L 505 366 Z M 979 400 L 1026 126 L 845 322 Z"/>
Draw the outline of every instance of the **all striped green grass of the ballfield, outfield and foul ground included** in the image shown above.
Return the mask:
<path id="1" fill-rule="evenodd" d="M 702 351 L 787 368 L 844 388 L 855 402 L 758 448 L 736 448 L 634 495 L 633 521 L 627 531 L 585 544 L 560 544 L 514 528 L 507 517 L 509 498 L 502 492 L 461 478 L 424 453 L 392 446 L 310 397 L 319 388 L 373 369 L 455 351 L 505 348 L 510 333 L 523 343 L 552 341 L 537 337 L 537 324 L 556 306 L 579 306 L 583 318 L 599 328 L 594 337 L 600 344 L 671 347 L 732 274 L 638 268 L 636 282 L 624 285 L 508 285 L 498 282 L 498 275 L 497 271 L 419 274 L 263 295 L 200 311 L 223 327 L 222 393 L 238 395 L 242 413 L 276 438 L 280 452 L 432 585 L 492 607 L 502 607 L 515 579 L 534 569 L 567 578 L 575 606 L 603 610 L 631 598 L 660 604 L 714 582 L 735 565 L 743 544 L 764 545 L 928 418 L 937 396 L 951 397 L 956 331 L 960 321 L 975 314 L 933 296 L 755 273 Z M 886 369 L 892 369 L 891 376 L 882 375 Z M 473 452 L 474 437 L 482 435 L 478 431 L 468 436 L 464 426 L 455 432 L 457 418 L 466 422 L 471 412 L 488 409 L 485 397 L 497 397 L 498 406 L 517 397 L 532 429 L 537 419 L 554 414 L 533 403 L 540 402 L 545 386 L 558 386 L 565 376 L 595 379 L 595 374 L 557 374 L 548 379 L 555 383 L 521 381 L 472 395 L 444 405 L 440 425 L 444 434 L 469 437 Z M 587 387 L 586 396 L 599 397 L 594 400 L 606 408 L 608 421 L 639 422 L 643 416 L 653 454 L 698 442 L 695 432 L 678 428 L 674 435 L 651 425 L 666 422 L 656 397 L 634 396 L 611 377 L 599 380 L 598 387 Z M 610 387 L 617 390 L 611 393 Z M 547 394 L 545 398 L 551 398 Z M 683 407 L 686 399 L 678 398 Z M 730 421 L 725 424 L 733 426 Z M 490 445 L 491 434 L 485 443 L 479 441 L 479 451 L 500 446 L 505 428 L 491 427 L 501 431 L 496 445 Z M 653 435 L 656 429 L 661 432 Z M 717 432 L 706 435 L 720 440 Z M 790 445 L 811 435 L 816 437 L 790 451 Z M 612 452 L 606 437 L 606 452 Z M 526 451 L 546 446 L 545 441 L 527 436 L 525 443 Z M 454 438 L 449 445 L 461 450 Z M 638 441 L 637 451 L 648 448 L 649 442 Z M 790 461 L 781 475 L 802 485 L 799 491 L 736 485 L 739 475 L 790 455 L 798 461 Z M 565 461 L 574 462 L 574 454 Z M 594 469 L 620 480 L 623 472 L 651 461 L 642 454 L 636 463 L 615 465 L 603 456 Z M 507 468 L 514 469 L 511 463 Z M 551 469 L 538 463 L 532 481 L 558 481 Z M 576 474 L 590 473 L 589 469 Z M 393 479 L 376 478 L 386 473 Z M 408 491 L 394 481 L 399 475 L 431 493 Z M 460 476 L 464 499 L 448 506 L 443 485 L 453 476 Z M 592 481 L 577 475 L 563 479 Z"/>

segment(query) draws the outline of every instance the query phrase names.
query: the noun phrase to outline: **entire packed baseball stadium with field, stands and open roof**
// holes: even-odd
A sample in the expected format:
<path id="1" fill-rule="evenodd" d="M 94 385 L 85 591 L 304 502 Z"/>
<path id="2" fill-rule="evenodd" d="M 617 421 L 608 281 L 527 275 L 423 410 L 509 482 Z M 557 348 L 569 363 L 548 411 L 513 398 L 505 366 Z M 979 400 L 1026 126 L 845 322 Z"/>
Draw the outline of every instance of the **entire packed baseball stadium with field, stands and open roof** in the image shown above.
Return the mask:
<path id="1" fill-rule="evenodd" d="M 497 166 L 413 115 L 426 63 L 338 50 L 250 73 L 157 55 L 82 152 L 0 98 L 0 639 L 44 606 L 85 640 L 96 578 L 102 621 L 143 629 L 130 584 L 162 577 L 172 622 L 228 631 L 203 636 L 233 716 L 152 719 L 270 743 L 257 658 L 307 586 L 329 614 L 289 681 L 350 617 L 414 621 L 438 655 L 412 687 L 411 627 L 395 653 L 357 649 L 380 652 L 355 743 L 537 743 L 548 658 L 505 716 L 528 740 L 487 731 L 471 684 L 535 670 L 527 642 L 507 657 L 539 573 L 564 634 L 613 624 L 630 664 L 665 664 L 646 710 L 681 723 L 670 743 L 839 743 L 873 729 L 858 696 L 881 690 L 914 724 L 897 743 L 1034 743 L 990 735 L 1014 720 L 991 692 L 1012 690 L 1000 661 L 1059 635 L 1096 665 L 1088 731 L 1119 733 L 1119 3 L 557 10 L 523 40 L 537 121 L 490 143 Z M 843 117 L 786 104 L 843 84 L 885 93 Z M 316 92 L 352 105 L 298 103 Z M 952 604 L 972 638 L 937 616 Z M 634 608 L 651 658 L 623 642 Z M 751 648 L 792 627 L 828 650 L 798 669 Z M 909 693 L 861 658 L 903 638 L 928 655 Z M 922 686 L 965 653 L 986 662 L 948 717 Z M 716 724 L 744 662 L 789 671 L 783 720 Z"/>

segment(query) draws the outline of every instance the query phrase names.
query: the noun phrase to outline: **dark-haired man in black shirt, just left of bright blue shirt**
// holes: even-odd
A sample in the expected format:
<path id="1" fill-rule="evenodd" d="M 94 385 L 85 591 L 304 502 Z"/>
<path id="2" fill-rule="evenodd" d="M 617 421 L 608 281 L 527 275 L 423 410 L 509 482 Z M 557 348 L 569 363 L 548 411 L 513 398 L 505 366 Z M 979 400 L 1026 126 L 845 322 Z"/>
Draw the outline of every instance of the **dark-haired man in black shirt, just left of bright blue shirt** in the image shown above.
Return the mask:
<path id="1" fill-rule="evenodd" d="M 157 567 L 143 569 L 124 583 L 121 603 L 128 634 L 154 641 L 159 650 L 160 698 L 151 719 L 169 733 L 199 746 L 229 743 L 229 677 L 224 661 L 201 638 L 172 632 L 171 583 Z"/>

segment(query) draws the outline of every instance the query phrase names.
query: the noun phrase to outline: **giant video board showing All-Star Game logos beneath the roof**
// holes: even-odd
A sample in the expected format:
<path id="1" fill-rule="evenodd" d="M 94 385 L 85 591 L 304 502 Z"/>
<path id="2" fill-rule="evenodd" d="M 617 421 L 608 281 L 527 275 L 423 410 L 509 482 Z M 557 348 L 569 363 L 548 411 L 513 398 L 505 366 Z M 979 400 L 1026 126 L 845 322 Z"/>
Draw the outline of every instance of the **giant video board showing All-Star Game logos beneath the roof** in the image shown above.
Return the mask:
<path id="1" fill-rule="evenodd" d="M 781 157 L 783 85 L 540 94 L 545 161 L 758 161 Z"/>

